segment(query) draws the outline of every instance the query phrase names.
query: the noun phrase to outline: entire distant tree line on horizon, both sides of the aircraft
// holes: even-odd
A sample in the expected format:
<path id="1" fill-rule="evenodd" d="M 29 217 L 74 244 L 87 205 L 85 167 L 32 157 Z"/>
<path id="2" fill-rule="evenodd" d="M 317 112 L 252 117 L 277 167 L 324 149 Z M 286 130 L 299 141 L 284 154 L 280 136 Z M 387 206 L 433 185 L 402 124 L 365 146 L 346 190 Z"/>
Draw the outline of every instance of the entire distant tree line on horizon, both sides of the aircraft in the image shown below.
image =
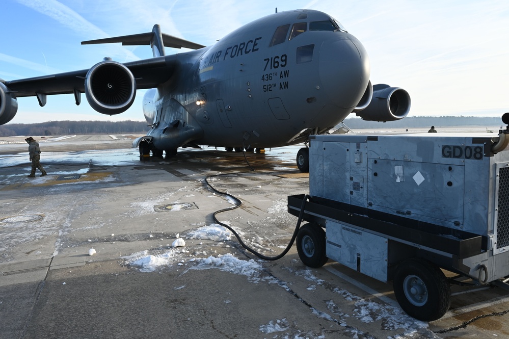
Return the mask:
<path id="1" fill-rule="evenodd" d="M 500 117 L 407 117 L 388 122 L 364 121 L 359 118 L 345 119 L 352 129 L 409 128 L 429 126 L 499 126 Z M 0 137 L 55 136 L 84 134 L 143 134 L 150 128 L 145 121 L 48 121 L 33 124 L 6 124 L 0 126 Z"/>

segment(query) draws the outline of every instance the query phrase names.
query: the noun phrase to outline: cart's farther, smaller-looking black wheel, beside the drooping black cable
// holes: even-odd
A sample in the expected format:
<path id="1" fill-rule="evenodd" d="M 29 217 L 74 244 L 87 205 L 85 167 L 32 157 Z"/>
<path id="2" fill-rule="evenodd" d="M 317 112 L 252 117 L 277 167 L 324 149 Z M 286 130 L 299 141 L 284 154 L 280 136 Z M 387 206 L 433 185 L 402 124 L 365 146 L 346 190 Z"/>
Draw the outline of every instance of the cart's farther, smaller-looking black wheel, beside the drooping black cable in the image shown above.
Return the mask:
<path id="1" fill-rule="evenodd" d="M 318 268 L 327 263 L 325 231 L 317 224 L 306 224 L 297 233 L 297 252 L 304 265 Z"/>

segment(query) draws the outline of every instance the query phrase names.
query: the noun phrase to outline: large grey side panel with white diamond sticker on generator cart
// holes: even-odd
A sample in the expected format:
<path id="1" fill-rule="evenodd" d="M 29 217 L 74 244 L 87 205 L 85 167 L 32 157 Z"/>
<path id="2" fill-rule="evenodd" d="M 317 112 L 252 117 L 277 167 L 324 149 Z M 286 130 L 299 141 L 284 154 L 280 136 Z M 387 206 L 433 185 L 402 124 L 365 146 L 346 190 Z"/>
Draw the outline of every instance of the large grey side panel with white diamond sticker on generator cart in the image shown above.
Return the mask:
<path id="1" fill-rule="evenodd" d="M 373 210 L 462 228 L 463 166 L 385 159 L 370 159 L 368 166 Z"/>

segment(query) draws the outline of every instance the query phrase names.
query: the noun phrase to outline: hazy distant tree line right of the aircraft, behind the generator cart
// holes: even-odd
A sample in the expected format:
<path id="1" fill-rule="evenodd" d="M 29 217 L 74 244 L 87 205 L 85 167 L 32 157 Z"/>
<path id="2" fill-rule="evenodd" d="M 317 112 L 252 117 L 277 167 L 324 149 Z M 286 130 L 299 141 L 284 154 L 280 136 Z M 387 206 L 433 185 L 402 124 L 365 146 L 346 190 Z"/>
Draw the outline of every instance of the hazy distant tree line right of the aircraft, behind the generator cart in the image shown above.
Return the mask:
<path id="1" fill-rule="evenodd" d="M 502 117 L 406 117 L 397 121 L 377 122 L 365 121 L 359 118 L 344 119 L 346 126 L 352 129 L 366 128 L 409 128 L 430 126 L 501 126 Z"/>

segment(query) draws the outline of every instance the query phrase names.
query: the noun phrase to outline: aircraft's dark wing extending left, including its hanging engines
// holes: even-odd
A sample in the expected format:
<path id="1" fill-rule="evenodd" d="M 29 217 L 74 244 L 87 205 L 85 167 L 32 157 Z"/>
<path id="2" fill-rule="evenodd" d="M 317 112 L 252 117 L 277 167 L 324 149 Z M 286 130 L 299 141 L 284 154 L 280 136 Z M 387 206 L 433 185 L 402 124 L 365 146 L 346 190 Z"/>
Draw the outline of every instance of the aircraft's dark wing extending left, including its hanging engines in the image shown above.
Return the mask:
<path id="1" fill-rule="evenodd" d="M 102 114 L 126 111 L 135 99 L 137 89 L 157 87 L 168 81 L 177 65 L 177 56 L 145 59 L 121 64 L 104 60 L 90 69 L 31 77 L 12 81 L 0 79 L 0 125 L 14 118 L 18 97 L 36 96 L 46 105 L 47 95 L 74 94 L 76 105 L 81 93 L 90 106 Z"/>

